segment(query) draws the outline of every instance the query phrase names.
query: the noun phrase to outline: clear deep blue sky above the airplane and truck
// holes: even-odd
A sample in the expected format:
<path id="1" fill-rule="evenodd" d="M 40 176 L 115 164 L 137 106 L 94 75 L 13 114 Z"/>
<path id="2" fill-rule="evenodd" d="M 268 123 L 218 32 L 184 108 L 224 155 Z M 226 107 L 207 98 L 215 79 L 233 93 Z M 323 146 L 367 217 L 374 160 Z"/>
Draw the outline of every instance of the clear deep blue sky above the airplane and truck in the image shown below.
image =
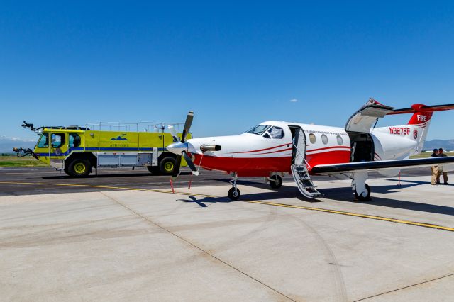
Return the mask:
<path id="1" fill-rule="evenodd" d="M 450 1 L 166 3 L 2 1 L 0 135 L 189 110 L 195 136 L 228 135 L 270 119 L 343 126 L 371 96 L 454 103 Z M 436 113 L 428 138 L 454 138 L 453 118 Z"/>

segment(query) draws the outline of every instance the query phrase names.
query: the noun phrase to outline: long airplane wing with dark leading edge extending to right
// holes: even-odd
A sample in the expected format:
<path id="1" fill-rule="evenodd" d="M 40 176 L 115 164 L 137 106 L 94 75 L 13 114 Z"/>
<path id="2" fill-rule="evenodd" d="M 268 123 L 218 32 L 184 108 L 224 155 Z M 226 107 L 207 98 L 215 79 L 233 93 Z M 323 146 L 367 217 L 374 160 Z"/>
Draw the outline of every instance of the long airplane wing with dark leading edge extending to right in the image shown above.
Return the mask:
<path id="1" fill-rule="evenodd" d="M 348 162 L 346 164 L 318 164 L 312 167 L 311 174 L 330 175 L 351 172 L 371 172 L 396 168 L 419 168 L 443 164 L 444 171 L 454 169 L 454 156 L 418 158 L 414 160 L 381 160 L 377 162 Z"/>

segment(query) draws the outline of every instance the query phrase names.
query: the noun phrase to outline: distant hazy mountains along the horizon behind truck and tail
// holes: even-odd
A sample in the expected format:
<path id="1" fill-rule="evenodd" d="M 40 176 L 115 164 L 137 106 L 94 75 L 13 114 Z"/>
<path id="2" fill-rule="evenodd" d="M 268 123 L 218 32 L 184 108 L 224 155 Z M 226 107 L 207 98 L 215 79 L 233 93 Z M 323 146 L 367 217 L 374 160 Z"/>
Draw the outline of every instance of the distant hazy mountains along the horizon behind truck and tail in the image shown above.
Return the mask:
<path id="1" fill-rule="evenodd" d="M 35 147 L 36 140 L 23 140 L 21 138 L 9 138 L 0 136 L 0 153 L 13 153 L 13 147 L 31 148 Z M 445 151 L 454 150 L 454 140 L 426 140 L 423 150 L 443 148 Z"/>

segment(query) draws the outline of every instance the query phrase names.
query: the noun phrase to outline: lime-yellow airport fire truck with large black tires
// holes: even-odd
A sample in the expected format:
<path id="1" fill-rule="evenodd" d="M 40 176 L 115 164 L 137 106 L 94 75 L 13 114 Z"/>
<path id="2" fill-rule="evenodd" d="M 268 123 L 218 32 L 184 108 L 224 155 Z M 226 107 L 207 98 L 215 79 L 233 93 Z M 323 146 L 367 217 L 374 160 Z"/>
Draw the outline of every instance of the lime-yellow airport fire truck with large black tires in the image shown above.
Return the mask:
<path id="1" fill-rule="evenodd" d="M 135 131 L 131 131 L 134 125 Z M 94 127 L 97 130 L 79 126 L 34 128 L 26 122 L 22 126 L 38 132 L 39 139 L 34 150 L 14 148 L 18 157 L 32 155 L 72 177 L 85 177 L 92 167 L 96 172 L 102 167 L 147 167 L 153 174 L 172 174 L 175 167 L 175 155 L 165 149 L 174 139 L 164 132 L 164 123 L 99 123 Z M 181 133 L 178 135 L 181 138 Z M 181 165 L 187 165 L 184 159 Z"/>

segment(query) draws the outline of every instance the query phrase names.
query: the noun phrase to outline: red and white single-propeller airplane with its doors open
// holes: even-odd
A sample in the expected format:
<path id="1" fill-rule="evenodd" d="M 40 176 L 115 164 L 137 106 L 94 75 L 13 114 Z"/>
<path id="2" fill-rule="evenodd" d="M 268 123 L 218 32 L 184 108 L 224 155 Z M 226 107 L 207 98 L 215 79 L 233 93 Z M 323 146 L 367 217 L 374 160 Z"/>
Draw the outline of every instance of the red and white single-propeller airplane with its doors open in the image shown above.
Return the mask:
<path id="1" fill-rule="evenodd" d="M 232 200 L 240 198 L 238 177 L 267 177 L 270 186 L 277 189 L 282 185 L 281 175 L 289 173 L 308 198 L 323 196 L 311 175 L 331 175 L 351 179 L 355 198 L 364 201 L 370 199 L 366 184 L 370 171 L 392 177 L 402 168 L 443 164 L 445 171 L 454 169 L 454 157 L 409 159 L 421 152 L 433 112 L 451 109 L 454 104 L 414 104 L 394 110 L 370 99 L 348 119 L 345 128 L 266 121 L 240 135 L 185 140 L 194 116 L 190 111 L 182 140 L 169 125 L 175 143 L 167 150 L 177 155 L 173 177 L 179 174 L 182 156 L 194 174 L 199 174 L 196 165 L 231 174 L 228 196 Z M 402 113 L 413 113 L 408 124 L 375 128 L 379 118 Z"/>

